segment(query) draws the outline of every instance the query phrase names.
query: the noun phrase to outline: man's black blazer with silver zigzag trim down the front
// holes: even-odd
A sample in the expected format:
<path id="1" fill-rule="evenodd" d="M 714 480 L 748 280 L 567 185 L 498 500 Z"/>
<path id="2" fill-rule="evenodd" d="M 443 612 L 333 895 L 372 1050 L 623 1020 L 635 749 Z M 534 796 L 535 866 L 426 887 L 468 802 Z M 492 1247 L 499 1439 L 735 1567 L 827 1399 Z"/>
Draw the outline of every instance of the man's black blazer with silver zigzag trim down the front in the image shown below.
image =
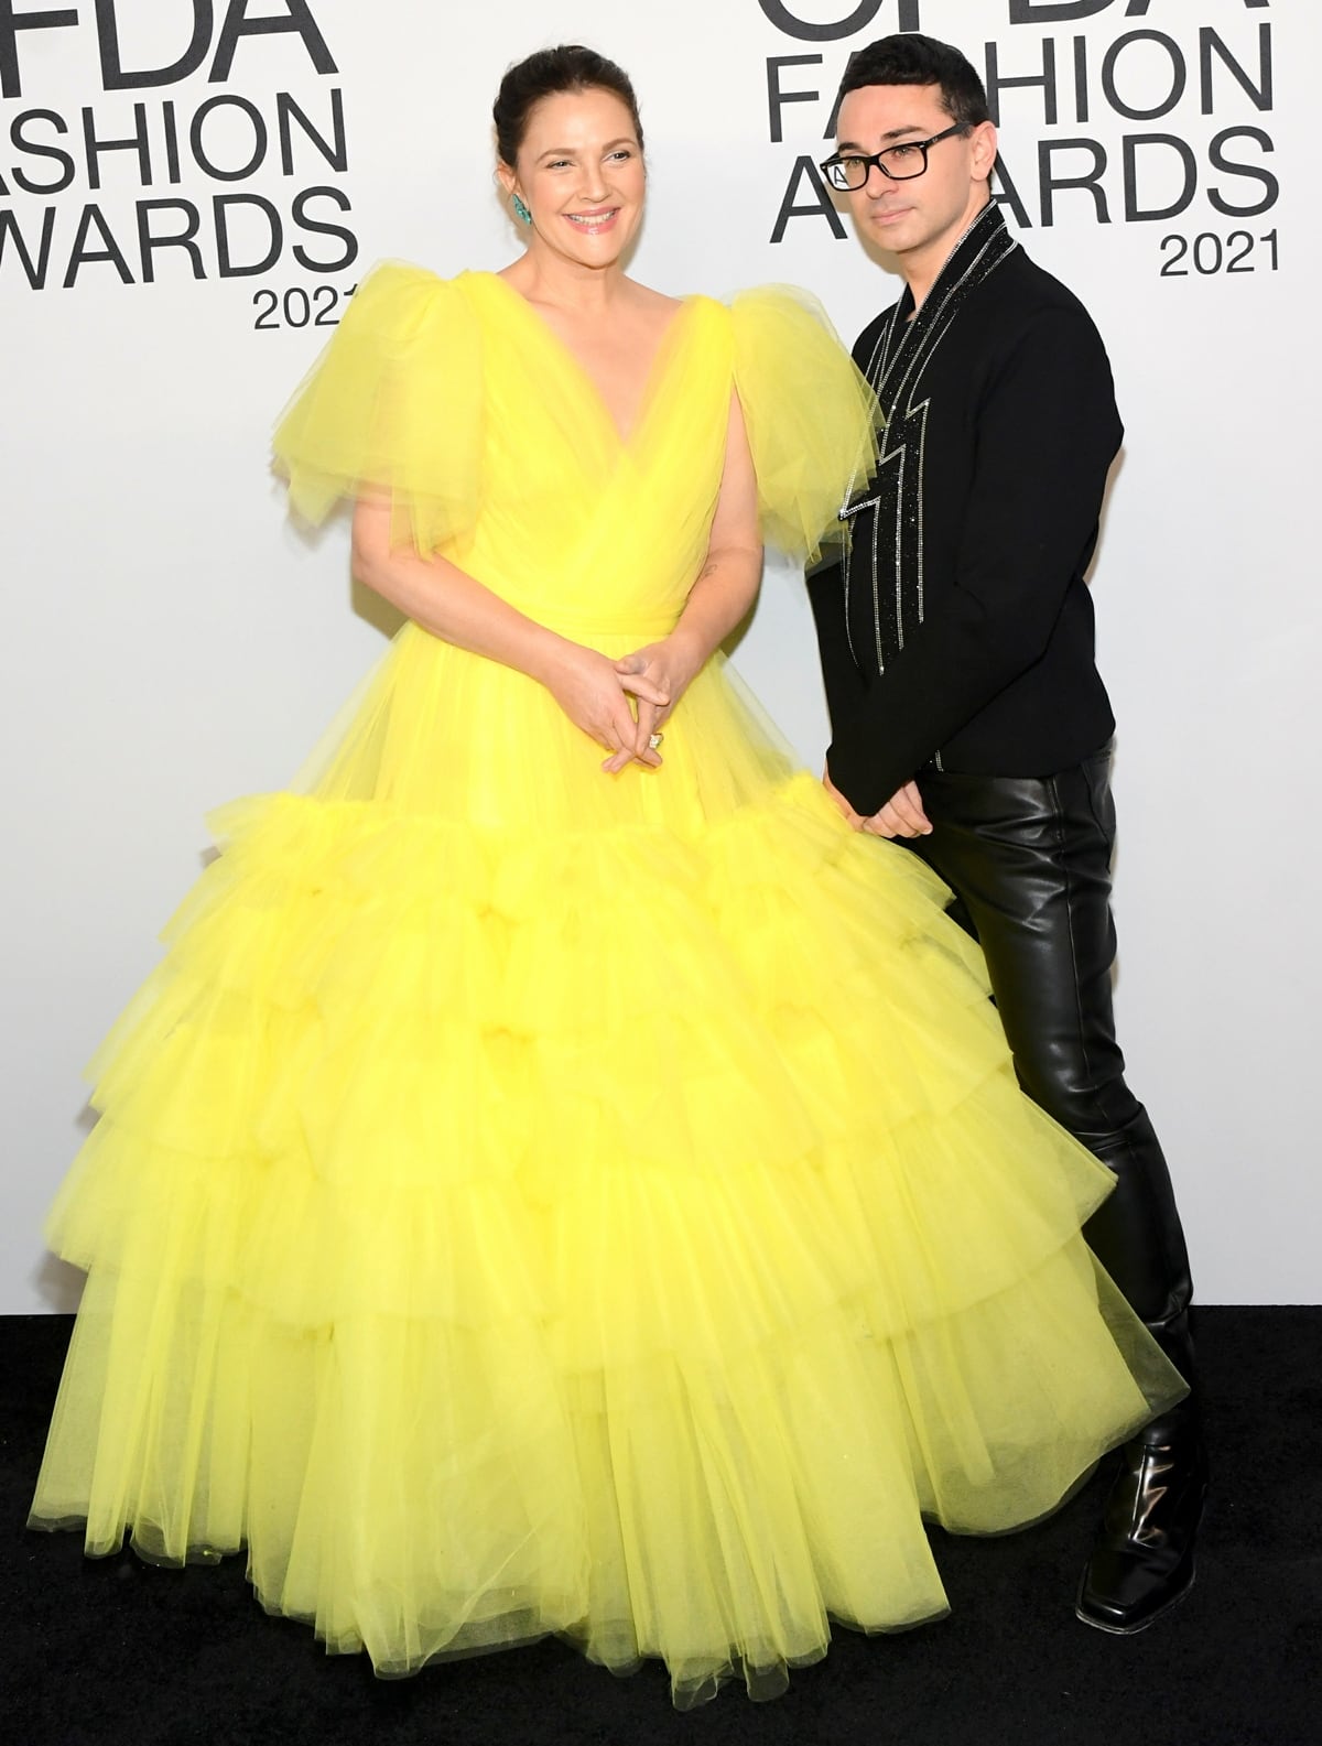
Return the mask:
<path id="1" fill-rule="evenodd" d="M 992 257 L 990 271 L 969 271 Z M 859 335 L 854 358 L 873 386 L 887 332 L 894 353 L 912 309 L 905 292 Z M 920 321 L 933 330 L 917 374 L 894 405 L 898 372 L 880 388 L 908 484 L 884 459 L 850 498 L 863 506 L 842 517 L 843 567 L 810 583 L 828 768 L 864 815 L 933 763 L 1048 775 L 1114 730 L 1083 580 L 1123 435 L 1100 335 L 1009 241 L 999 206 L 957 246 L 915 335 Z"/>

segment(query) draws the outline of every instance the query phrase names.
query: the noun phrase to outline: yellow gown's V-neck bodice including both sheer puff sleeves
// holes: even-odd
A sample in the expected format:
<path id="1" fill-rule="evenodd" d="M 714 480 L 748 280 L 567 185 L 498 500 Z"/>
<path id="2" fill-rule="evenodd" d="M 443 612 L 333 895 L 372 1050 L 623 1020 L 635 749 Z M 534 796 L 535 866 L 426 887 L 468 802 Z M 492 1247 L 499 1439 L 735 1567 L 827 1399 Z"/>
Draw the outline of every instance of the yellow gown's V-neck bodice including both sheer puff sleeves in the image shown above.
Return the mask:
<path id="1" fill-rule="evenodd" d="M 768 543 L 816 548 L 870 454 L 873 403 L 821 309 L 784 288 L 686 297 L 634 428 L 492 272 L 377 269 L 276 435 L 295 508 L 386 491 L 402 538 L 566 634 L 653 634 L 707 548 L 730 395 Z"/>

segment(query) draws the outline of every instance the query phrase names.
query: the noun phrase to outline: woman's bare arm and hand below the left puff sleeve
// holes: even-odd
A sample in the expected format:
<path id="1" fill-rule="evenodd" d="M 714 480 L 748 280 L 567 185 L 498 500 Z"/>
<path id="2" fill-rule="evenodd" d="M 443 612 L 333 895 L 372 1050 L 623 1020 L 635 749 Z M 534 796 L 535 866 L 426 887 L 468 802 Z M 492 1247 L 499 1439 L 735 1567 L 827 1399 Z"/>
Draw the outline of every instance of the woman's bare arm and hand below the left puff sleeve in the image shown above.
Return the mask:
<path id="1" fill-rule="evenodd" d="M 627 697 L 637 697 L 639 709 L 665 707 L 669 693 L 653 676 L 616 672 L 604 655 L 527 618 L 449 559 L 393 548 L 389 503 L 381 498 L 363 498 L 355 508 L 353 574 L 433 637 L 545 684 L 575 726 L 608 753 L 625 751 L 625 761 L 634 756 L 658 761 L 646 747 L 646 735 L 643 751 L 637 749 L 637 721 Z"/>

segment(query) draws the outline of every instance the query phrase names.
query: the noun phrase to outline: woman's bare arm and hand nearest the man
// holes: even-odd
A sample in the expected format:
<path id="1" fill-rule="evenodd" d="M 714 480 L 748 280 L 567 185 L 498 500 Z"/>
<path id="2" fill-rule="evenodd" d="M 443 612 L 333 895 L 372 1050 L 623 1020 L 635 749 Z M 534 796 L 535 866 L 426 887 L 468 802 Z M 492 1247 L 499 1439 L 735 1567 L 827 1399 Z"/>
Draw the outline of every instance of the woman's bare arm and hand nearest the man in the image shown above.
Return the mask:
<path id="1" fill-rule="evenodd" d="M 697 674 L 744 618 L 761 583 L 761 536 L 758 533 L 758 480 L 744 430 L 744 414 L 730 398 L 725 438 L 725 470 L 716 515 L 707 540 L 707 557 L 674 630 L 615 663 L 630 690 L 644 679 L 658 686 L 667 702 L 637 695 L 637 726 L 632 746 L 622 746 L 602 770 L 622 770 L 630 758 L 648 751 L 657 726 L 669 718 Z M 655 760 L 655 754 L 653 754 Z"/>

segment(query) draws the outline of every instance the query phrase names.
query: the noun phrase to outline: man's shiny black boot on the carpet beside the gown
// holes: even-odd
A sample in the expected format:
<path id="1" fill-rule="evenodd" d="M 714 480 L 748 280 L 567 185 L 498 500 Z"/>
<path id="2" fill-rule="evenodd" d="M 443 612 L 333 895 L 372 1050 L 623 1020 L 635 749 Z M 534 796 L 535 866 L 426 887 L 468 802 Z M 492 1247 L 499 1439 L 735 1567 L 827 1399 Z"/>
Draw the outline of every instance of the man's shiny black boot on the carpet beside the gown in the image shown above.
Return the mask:
<path id="1" fill-rule="evenodd" d="M 1121 1449 L 1074 1608 L 1086 1626 L 1116 1636 L 1144 1631 L 1193 1587 L 1207 1449 L 1188 1320 L 1179 1322 L 1179 1329 L 1153 1332 L 1195 1393 Z"/>

